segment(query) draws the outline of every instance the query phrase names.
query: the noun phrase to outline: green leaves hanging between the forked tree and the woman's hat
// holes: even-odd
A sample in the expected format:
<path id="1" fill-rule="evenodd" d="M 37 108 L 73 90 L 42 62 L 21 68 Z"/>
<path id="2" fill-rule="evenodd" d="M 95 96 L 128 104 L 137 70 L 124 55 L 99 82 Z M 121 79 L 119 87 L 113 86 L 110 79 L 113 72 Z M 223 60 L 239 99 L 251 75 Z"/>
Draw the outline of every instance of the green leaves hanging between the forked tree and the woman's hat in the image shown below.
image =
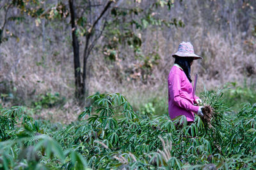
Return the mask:
<path id="1" fill-rule="evenodd" d="M 131 4 L 131 2 L 129 2 Z M 141 45 L 143 43 L 143 31 L 148 27 L 159 27 L 161 29 L 164 25 L 170 27 L 175 25 L 177 27 L 184 27 L 181 20 L 173 18 L 172 21 L 163 20 L 157 16 L 155 12 L 158 8 L 168 8 L 169 10 L 173 6 L 174 1 L 156 0 L 151 1 L 148 8 L 144 9 L 140 6 L 141 1 L 134 1 L 136 4 L 133 8 L 112 8 L 112 19 L 109 20 L 106 25 L 106 31 L 104 39 L 106 45 L 104 45 L 104 55 L 110 60 L 118 60 L 118 53 L 120 52 L 119 46 L 128 45 L 133 51 L 135 57 L 141 57 L 144 60 L 144 67 L 151 69 L 154 62 L 157 62 L 159 55 L 157 52 L 150 52 L 148 56 L 145 56 L 141 52 Z M 136 28 L 138 33 L 134 33 Z"/>

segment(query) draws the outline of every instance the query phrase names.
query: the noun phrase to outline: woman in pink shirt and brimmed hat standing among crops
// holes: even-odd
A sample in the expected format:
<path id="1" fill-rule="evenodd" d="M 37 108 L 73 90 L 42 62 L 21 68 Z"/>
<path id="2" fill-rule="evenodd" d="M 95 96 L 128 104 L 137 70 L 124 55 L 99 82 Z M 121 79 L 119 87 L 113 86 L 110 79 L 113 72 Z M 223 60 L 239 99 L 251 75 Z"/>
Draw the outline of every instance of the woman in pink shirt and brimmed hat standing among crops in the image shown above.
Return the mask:
<path id="1" fill-rule="evenodd" d="M 173 119 L 184 115 L 188 122 L 195 120 L 194 113 L 203 116 L 202 106 L 195 106 L 202 101 L 199 97 L 193 97 L 191 85 L 190 67 L 193 60 L 202 59 L 194 53 L 193 46 L 189 42 L 182 42 L 178 52 L 172 55 L 175 57 L 174 66 L 168 76 L 168 111 Z"/>

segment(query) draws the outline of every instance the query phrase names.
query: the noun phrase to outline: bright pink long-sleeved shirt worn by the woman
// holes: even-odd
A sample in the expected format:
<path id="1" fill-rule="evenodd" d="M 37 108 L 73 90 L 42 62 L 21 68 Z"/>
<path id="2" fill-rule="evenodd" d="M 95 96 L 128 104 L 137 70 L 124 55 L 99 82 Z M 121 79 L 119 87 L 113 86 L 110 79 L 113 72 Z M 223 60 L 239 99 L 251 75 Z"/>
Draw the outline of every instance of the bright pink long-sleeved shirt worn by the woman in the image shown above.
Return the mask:
<path id="1" fill-rule="evenodd" d="M 195 96 L 195 99 L 198 99 Z M 185 115 L 188 122 L 195 120 L 199 106 L 193 105 L 193 87 L 182 69 L 173 66 L 168 76 L 168 112 L 171 119 Z M 193 113 L 194 112 L 194 113 Z"/>

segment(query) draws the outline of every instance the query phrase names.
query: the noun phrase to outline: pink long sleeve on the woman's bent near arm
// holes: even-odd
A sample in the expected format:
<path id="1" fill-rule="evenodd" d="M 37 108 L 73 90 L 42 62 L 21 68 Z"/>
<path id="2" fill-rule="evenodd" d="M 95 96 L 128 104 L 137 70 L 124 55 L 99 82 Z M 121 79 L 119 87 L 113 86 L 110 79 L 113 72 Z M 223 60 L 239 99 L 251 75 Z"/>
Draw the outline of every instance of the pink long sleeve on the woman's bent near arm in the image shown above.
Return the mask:
<path id="1" fill-rule="evenodd" d="M 179 74 L 173 74 L 172 77 L 168 78 L 168 88 L 170 90 L 170 98 L 173 100 L 173 103 L 184 110 L 193 111 L 197 113 L 198 106 L 194 106 L 187 99 L 184 99 L 180 96 L 181 89 L 181 78 Z"/>

